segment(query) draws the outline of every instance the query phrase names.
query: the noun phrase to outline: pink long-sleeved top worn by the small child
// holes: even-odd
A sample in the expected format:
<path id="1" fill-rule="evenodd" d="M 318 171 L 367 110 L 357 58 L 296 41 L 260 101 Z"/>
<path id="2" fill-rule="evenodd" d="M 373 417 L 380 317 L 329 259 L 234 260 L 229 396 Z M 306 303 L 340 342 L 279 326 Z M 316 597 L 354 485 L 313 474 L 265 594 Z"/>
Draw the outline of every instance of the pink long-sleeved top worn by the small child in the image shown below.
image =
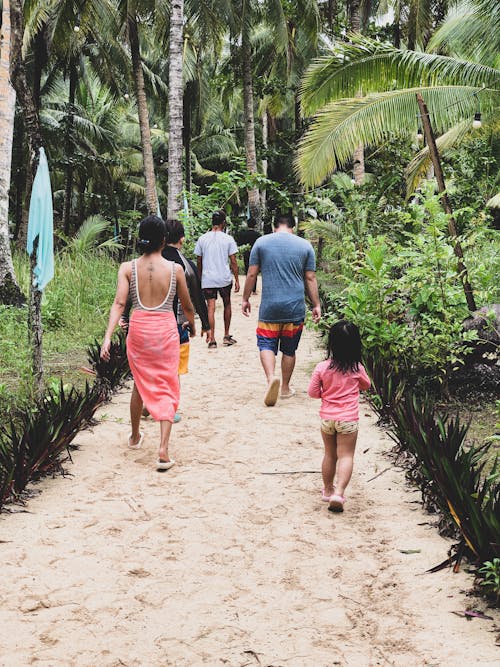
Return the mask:
<path id="1" fill-rule="evenodd" d="M 321 419 L 357 421 L 359 419 L 359 392 L 368 389 L 370 378 L 359 364 L 356 372 L 329 368 L 330 359 L 322 361 L 314 369 L 309 383 L 311 398 L 321 398 Z"/>

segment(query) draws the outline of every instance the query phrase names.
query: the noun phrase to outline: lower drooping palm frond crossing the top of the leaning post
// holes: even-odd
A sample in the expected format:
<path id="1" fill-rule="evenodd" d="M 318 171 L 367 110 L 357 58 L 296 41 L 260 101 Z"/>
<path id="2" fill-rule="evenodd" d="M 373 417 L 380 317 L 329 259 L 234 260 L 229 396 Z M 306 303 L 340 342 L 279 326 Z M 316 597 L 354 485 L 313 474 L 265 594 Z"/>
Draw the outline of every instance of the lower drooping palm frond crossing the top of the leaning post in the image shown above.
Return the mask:
<path id="1" fill-rule="evenodd" d="M 434 130 L 444 133 L 473 116 L 479 90 L 483 89 L 418 87 L 331 102 L 318 112 L 299 144 L 296 169 L 301 182 L 306 186 L 321 184 L 329 173 L 348 162 L 361 144 L 371 146 L 389 137 L 416 133 L 417 92 L 426 100 Z M 494 97 L 495 92 L 488 95 L 483 90 L 485 111 L 491 108 Z"/>

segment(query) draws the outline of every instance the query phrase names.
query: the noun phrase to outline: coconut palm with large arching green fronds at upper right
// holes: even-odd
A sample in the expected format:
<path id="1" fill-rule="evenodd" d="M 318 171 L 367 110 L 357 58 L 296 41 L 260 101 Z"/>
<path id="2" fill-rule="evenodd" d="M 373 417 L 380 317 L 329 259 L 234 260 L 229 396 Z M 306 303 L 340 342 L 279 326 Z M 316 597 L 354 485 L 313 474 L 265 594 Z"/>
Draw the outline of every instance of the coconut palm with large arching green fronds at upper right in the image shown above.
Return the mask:
<path id="1" fill-rule="evenodd" d="M 489 6 L 486 29 L 486 5 L 486 0 L 476 0 L 477 21 L 462 25 L 462 29 L 471 26 L 477 38 L 478 25 L 482 24 L 482 41 L 488 45 L 482 46 L 481 52 L 498 54 L 500 6 L 493 11 Z M 313 113 L 314 119 L 299 146 L 300 178 L 308 186 L 317 185 L 346 164 L 361 142 L 375 145 L 394 135 L 415 134 L 416 92 L 425 98 L 433 127 L 440 134 L 465 119 L 471 127 L 479 104 L 488 120 L 498 103 L 499 82 L 498 66 L 479 59 L 407 51 L 353 37 L 352 43 L 342 43 L 333 55 L 319 59 L 304 78 L 303 111 Z M 366 96 L 356 98 L 361 86 Z M 455 132 L 455 136 L 460 133 Z"/>

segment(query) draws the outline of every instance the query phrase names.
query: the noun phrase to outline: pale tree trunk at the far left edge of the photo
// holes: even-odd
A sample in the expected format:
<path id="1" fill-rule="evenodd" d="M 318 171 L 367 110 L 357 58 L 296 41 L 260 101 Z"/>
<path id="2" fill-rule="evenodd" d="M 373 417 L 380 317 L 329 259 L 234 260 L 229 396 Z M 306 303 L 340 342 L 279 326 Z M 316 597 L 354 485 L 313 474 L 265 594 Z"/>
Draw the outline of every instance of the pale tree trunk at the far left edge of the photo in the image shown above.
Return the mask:
<path id="1" fill-rule="evenodd" d="M 25 302 L 12 264 L 9 237 L 9 188 L 16 93 L 10 85 L 10 7 L 3 0 L 0 42 L 0 303 L 20 306 Z"/>

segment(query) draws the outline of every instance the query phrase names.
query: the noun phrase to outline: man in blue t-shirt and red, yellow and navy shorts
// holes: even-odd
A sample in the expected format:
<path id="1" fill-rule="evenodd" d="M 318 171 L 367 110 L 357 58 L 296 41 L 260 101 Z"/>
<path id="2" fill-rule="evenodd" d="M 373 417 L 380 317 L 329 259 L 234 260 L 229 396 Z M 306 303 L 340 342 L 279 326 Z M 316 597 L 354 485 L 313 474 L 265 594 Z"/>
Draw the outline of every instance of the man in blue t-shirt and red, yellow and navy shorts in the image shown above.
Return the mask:
<path id="1" fill-rule="evenodd" d="M 314 250 L 309 241 L 293 233 L 294 226 L 291 215 L 279 215 L 274 222 L 274 234 L 257 239 L 250 253 L 243 290 L 242 311 L 248 317 L 250 293 L 260 271 L 262 299 L 257 346 L 268 383 L 264 397 L 268 406 L 276 404 L 278 394 L 289 398 L 295 393 L 290 389 L 290 378 L 306 315 L 304 292 L 312 303 L 313 321 L 318 322 L 321 317 Z M 280 381 L 274 377 L 278 349 L 282 352 L 281 393 Z"/>

